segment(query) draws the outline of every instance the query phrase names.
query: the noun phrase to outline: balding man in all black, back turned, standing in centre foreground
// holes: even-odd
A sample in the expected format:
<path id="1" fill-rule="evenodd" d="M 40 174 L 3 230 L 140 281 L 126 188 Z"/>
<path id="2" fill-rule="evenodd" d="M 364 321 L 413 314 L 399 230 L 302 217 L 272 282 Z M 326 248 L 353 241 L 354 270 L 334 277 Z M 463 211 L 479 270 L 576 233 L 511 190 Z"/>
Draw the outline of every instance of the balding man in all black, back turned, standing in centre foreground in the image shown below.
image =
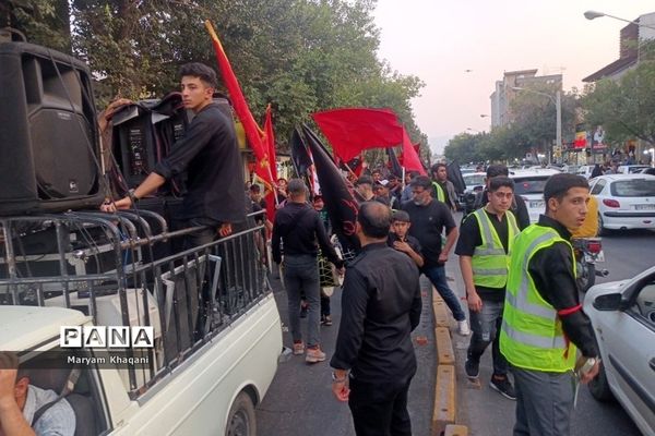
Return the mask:
<path id="1" fill-rule="evenodd" d="M 420 320 L 418 268 L 386 246 L 389 207 L 361 205 L 361 253 L 348 266 L 331 366 L 332 391 L 348 401 L 358 436 L 410 436 L 407 391 L 416 373 L 410 332 Z M 349 373 L 349 374 L 348 374 Z"/>

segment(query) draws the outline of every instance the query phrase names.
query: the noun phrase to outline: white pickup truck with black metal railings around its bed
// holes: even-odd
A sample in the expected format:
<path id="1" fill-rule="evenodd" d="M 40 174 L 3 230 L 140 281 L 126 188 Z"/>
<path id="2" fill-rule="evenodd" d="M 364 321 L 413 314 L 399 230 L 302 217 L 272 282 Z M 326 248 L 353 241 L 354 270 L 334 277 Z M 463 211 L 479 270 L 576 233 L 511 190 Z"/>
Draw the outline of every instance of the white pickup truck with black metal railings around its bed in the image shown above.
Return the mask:
<path id="1" fill-rule="evenodd" d="M 72 387 L 76 435 L 257 434 L 283 350 L 263 229 L 171 245 L 191 231 L 145 210 L 0 218 L 0 350 Z M 62 347 L 64 326 L 150 326 L 153 347 Z"/>

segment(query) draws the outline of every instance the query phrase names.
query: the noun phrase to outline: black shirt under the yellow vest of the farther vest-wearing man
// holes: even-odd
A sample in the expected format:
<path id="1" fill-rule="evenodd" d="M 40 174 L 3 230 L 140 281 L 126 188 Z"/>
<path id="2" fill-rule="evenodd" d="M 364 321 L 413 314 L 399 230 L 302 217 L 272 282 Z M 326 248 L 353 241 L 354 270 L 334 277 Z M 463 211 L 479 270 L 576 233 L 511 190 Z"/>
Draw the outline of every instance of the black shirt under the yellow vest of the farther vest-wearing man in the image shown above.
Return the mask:
<path id="1" fill-rule="evenodd" d="M 504 249 L 505 253 L 509 251 L 509 222 L 507 214 L 503 214 L 502 220 L 498 219 L 498 215 L 484 209 Z M 457 239 L 457 245 L 455 246 L 455 254 L 458 256 L 471 256 L 475 253 L 475 247 L 483 244 L 483 234 L 477 219 L 469 215 L 467 216 L 462 226 L 460 226 L 460 238 Z M 504 300 L 504 288 L 487 288 L 476 284 L 475 290 L 483 300 L 500 302 Z"/>

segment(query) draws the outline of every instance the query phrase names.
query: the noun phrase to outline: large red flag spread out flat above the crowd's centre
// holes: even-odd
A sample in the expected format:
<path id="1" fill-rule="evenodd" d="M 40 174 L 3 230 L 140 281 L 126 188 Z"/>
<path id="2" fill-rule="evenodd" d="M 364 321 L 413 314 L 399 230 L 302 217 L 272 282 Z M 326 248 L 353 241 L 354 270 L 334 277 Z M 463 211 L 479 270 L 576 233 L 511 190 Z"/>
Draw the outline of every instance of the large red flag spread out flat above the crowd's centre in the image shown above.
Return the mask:
<path id="1" fill-rule="evenodd" d="M 344 161 L 364 149 L 393 147 L 403 141 L 403 126 L 391 109 L 343 108 L 312 118 Z"/>

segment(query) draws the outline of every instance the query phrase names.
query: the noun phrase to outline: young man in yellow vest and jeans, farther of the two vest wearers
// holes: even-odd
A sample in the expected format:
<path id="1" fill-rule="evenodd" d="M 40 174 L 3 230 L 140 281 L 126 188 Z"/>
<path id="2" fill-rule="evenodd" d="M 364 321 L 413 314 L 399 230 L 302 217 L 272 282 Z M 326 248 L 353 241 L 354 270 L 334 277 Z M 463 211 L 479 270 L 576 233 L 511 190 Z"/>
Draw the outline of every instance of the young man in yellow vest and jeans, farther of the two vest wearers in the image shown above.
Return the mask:
<path id="1" fill-rule="evenodd" d="M 473 336 L 464 368 L 471 378 L 478 378 L 480 358 L 491 343 L 493 375 L 489 386 L 510 400 L 516 395 L 508 377 L 508 361 L 500 353 L 498 331 L 502 324 L 509 253 L 519 226 L 509 211 L 514 196 L 514 181 L 501 175 L 491 179 L 488 203 L 464 219 L 455 254 L 466 287 Z"/>

